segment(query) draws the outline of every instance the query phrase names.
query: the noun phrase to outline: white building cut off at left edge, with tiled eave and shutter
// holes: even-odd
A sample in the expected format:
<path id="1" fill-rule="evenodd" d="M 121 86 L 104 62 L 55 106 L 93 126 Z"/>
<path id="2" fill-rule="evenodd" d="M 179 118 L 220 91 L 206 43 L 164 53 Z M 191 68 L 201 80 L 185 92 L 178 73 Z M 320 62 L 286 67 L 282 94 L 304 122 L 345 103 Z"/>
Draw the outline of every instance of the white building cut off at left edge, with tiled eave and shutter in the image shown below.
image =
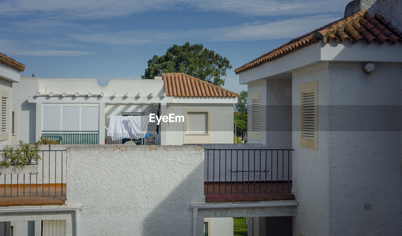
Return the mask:
<path id="1" fill-rule="evenodd" d="M 20 82 L 20 72 L 25 65 L 0 53 L 0 96 L 1 96 L 1 131 L 0 145 L 18 142 L 18 110 L 12 106 L 12 87 Z"/>

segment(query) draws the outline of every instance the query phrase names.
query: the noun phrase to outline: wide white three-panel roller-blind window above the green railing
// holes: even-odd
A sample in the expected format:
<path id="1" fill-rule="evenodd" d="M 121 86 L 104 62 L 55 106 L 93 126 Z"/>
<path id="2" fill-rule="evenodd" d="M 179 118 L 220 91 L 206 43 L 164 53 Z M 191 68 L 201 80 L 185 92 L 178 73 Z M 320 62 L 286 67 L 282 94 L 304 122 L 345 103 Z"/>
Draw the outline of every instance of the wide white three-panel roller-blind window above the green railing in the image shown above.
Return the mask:
<path id="1" fill-rule="evenodd" d="M 43 104 L 42 132 L 98 132 L 97 104 Z"/>

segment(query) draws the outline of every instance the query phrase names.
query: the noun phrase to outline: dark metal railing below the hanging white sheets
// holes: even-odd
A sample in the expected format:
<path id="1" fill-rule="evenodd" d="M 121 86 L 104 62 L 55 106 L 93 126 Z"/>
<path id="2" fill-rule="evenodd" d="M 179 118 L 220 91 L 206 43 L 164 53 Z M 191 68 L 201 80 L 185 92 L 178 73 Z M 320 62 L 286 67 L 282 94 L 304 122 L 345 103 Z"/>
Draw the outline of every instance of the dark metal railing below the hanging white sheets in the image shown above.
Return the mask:
<path id="1" fill-rule="evenodd" d="M 106 134 L 106 144 L 124 144 L 133 141 L 137 145 L 160 145 L 160 134 Z"/>

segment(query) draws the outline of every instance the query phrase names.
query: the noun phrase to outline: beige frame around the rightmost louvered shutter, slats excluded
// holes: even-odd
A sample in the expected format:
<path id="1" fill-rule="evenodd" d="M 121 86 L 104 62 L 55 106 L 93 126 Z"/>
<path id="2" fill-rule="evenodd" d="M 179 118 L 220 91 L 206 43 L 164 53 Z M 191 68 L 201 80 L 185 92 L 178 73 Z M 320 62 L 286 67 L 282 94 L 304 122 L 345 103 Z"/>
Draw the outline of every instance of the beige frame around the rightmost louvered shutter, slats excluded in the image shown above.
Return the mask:
<path id="1" fill-rule="evenodd" d="M 303 138 L 303 94 L 314 92 L 314 139 Z M 299 84 L 299 146 L 318 149 L 318 81 Z"/>

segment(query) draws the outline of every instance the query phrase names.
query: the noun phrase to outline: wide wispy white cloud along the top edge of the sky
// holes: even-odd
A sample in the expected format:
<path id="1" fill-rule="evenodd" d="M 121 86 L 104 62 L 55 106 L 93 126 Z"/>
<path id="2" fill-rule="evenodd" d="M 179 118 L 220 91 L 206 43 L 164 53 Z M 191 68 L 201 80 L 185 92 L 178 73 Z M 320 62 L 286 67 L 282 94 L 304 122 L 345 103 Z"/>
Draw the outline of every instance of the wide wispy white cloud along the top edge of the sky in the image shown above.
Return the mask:
<path id="1" fill-rule="evenodd" d="M 343 12 L 350 0 L 5 0 L 0 14 L 47 14 L 60 18 L 111 18 L 150 11 L 196 10 L 246 16 L 293 16 Z"/>

